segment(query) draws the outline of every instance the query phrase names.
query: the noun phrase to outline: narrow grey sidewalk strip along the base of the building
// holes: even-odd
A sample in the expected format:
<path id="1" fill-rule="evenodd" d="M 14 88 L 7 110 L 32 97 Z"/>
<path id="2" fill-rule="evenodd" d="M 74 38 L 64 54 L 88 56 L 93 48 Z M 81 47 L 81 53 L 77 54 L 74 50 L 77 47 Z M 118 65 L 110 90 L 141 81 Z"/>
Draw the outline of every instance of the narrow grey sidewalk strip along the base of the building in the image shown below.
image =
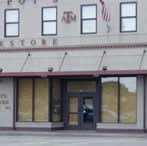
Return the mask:
<path id="1" fill-rule="evenodd" d="M 59 137 L 138 137 L 147 138 L 147 133 L 98 133 L 96 131 L 0 131 L 0 136 L 59 136 Z"/>

